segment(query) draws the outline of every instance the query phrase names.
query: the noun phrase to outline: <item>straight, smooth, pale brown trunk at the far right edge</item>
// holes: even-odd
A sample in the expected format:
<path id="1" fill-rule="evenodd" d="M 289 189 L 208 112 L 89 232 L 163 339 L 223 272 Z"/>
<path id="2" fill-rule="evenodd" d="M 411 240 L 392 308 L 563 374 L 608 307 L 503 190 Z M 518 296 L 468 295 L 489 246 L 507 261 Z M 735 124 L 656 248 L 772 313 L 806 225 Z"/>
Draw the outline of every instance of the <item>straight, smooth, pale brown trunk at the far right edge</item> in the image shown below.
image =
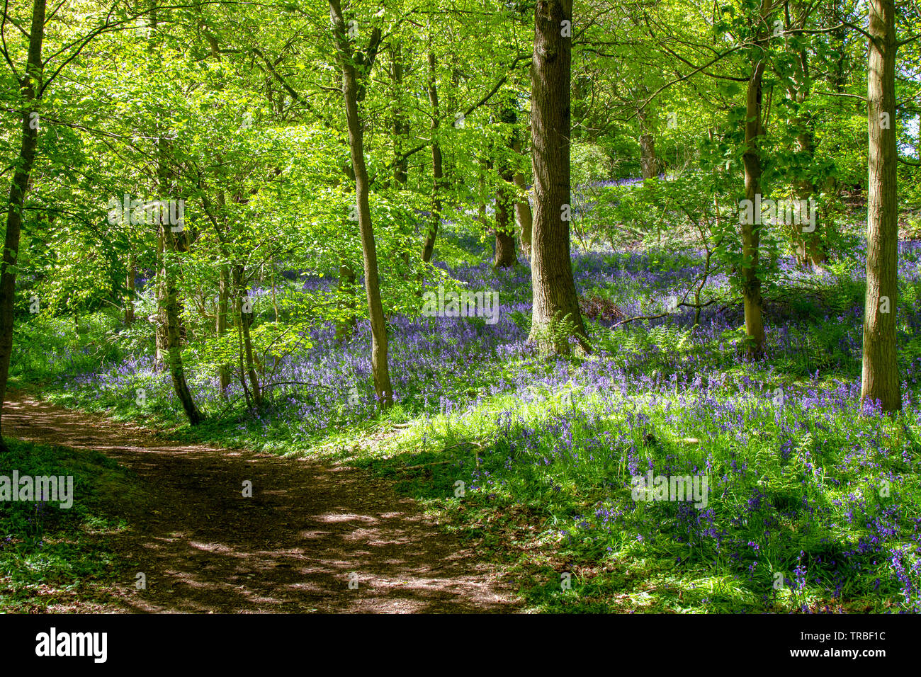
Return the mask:
<path id="1" fill-rule="evenodd" d="M 899 224 L 895 143 L 895 4 L 869 3 L 867 299 L 860 402 L 902 408 L 895 335 Z"/>

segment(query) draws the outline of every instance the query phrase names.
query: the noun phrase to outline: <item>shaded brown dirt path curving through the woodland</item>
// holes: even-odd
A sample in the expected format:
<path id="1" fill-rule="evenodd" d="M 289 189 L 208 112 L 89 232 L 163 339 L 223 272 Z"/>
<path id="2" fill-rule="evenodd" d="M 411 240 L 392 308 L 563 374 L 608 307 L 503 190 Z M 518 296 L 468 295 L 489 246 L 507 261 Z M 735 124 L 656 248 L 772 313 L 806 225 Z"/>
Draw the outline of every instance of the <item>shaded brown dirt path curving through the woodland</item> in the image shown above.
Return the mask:
<path id="1" fill-rule="evenodd" d="M 135 589 L 132 576 L 105 611 L 519 611 L 494 566 L 367 473 L 170 443 L 22 392 L 7 396 L 6 435 L 96 449 L 146 485 L 150 503 L 126 513 L 130 529 L 111 539 L 116 552 L 139 563 L 147 589 Z M 246 480 L 251 498 L 241 494 Z"/>

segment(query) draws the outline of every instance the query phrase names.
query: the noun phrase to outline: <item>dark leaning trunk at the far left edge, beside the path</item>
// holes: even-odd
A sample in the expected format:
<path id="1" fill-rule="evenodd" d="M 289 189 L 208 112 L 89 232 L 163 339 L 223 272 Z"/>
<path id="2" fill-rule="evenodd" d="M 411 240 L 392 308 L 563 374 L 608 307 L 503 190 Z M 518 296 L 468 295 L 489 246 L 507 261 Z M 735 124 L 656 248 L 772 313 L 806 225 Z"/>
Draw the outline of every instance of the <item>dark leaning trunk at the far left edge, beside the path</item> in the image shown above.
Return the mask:
<path id="1" fill-rule="evenodd" d="M 16 262 L 19 254 L 19 235 L 22 232 L 22 211 L 29 192 L 29 174 L 35 164 L 35 149 L 39 144 L 38 125 L 32 124 L 41 88 L 41 44 L 45 37 L 45 0 L 35 0 L 32 5 L 32 26 L 29 32 L 29 55 L 26 75 L 19 83 L 23 98 L 22 144 L 13 182 L 9 187 L 9 205 L 6 209 L 6 237 L 3 262 L 0 263 L 0 451 L 6 451 L 3 442 L 2 415 L 6 400 L 6 379 L 9 360 L 13 352 L 13 303 L 16 300 Z M 37 114 L 37 113 L 36 113 Z"/>

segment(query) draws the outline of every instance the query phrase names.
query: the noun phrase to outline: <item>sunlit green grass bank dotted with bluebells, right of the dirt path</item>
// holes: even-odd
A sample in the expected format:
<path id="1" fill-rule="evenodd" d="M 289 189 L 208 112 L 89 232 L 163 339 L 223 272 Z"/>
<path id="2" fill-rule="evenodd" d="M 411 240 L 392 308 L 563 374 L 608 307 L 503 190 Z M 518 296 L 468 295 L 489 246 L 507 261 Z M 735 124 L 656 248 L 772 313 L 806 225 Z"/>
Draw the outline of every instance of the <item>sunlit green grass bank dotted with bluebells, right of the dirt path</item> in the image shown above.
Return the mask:
<path id="1" fill-rule="evenodd" d="M 610 258 L 608 273 L 626 265 L 622 255 Z M 662 251 L 654 263 L 669 271 L 688 262 Z M 892 418 L 861 414 L 860 321 L 845 314 L 863 290 L 840 267 L 837 276 L 810 278 L 809 294 L 791 290 L 786 305 L 772 307 L 775 344 L 764 361 L 740 359 L 741 334 L 729 323 L 611 331 L 589 322 L 596 353 L 584 359 L 527 351 L 499 358 L 478 353 L 475 342 L 454 345 L 457 355 L 446 353 L 451 361 L 436 374 L 456 408 L 450 416 L 436 414 L 431 399 L 412 399 L 427 386 L 427 367 L 402 391 L 407 402 L 387 414 L 350 417 L 335 403 L 328 424 L 307 433 L 312 422 L 284 408 L 261 417 L 238 409 L 192 429 L 166 405 L 166 379 L 110 378 L 118 365 L 96 368 L 108 370 L 104 387 L 75 387 L 59 374 L 64 379 L 49 381 L 44 394 L 180 438 L 367 468 L 510 569 L 535 611 L 917 612 L 914 297 L 906 293 L 900 309 L 910 404 Z M 915 284 L 903 282 L 906 290 Z M 623 279 L 592 288 L 617 304 L 638 297 L 641 308 L 655 308 L 667 291 Z M 527 335 L 527 313 L 510 319 Z M 434 336 L 431 344 L 448 340 Z M 41 333 L 37 342 L 31 350 Z M 79 355 L 79 345 L 68 349 Z M 622 368 L 625 386 L 617 379 L 612 389 L 605 375 Z M 133 379 L 150 385 L 144 406 L 134 402 Z M 635 501 L 631 477 L 649 468 L 705 473 L 707 506 Z"/>

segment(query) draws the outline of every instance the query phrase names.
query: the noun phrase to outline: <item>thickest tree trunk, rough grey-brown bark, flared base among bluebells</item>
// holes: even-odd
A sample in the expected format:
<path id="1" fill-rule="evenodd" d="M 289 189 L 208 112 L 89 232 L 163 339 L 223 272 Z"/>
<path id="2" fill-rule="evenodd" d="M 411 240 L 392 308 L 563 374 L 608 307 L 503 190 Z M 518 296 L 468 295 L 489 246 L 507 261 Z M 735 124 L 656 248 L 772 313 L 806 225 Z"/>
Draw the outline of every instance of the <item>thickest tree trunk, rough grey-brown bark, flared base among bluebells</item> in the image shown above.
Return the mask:
<path id="1" fill-rule="evenodd" d="M 589 350 L 578 308 L 569 253 L 569 80 L 572 39 L 561 35 L 572 21 L 572 0 L 538 0 L 534 11 L 531 79 L 531 166 L 534 171 L 534 241 L 531 251 L 533 315 L 530 338 L 546 353 L 568 353 L 554 329 L 571 321 Z M 571 24 L 570 24 L 571 25 Z"/>

